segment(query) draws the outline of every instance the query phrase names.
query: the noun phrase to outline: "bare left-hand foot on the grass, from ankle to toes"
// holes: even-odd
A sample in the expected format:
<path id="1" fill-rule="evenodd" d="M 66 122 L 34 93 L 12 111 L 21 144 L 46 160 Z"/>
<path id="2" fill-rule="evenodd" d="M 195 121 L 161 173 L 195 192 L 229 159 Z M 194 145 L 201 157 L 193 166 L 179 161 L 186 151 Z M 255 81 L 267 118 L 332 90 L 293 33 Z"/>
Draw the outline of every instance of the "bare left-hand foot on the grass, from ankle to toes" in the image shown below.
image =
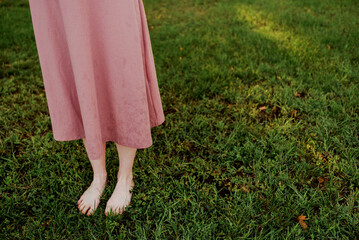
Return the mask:
<path id="1" fill-rule="evenodd" d="M 91 185 L 82 194 L 79 201 L 77 202 L 78 208 L 81 213 L 87 216 L 92 215 L 98 205 L 100 204 L 100 198 L 105 189 L 107 176 L 95 177 Z"/>

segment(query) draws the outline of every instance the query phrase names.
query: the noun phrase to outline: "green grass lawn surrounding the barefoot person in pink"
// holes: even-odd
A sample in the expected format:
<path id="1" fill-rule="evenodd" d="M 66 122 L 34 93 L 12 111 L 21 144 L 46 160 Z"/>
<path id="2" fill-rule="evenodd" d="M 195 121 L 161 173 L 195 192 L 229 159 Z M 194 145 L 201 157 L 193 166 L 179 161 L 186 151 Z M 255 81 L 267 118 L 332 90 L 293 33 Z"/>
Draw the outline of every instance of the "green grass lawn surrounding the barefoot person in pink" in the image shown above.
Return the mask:
<path id="1" fill-rule="evenodd" d="M 359 2 L 143 3 L 166 120 L 106 218 L 116 147 L 84 216 L 85 148 L 53 139 L 28 2 L 0 0 L 0 238 L 358 237 Z"/>

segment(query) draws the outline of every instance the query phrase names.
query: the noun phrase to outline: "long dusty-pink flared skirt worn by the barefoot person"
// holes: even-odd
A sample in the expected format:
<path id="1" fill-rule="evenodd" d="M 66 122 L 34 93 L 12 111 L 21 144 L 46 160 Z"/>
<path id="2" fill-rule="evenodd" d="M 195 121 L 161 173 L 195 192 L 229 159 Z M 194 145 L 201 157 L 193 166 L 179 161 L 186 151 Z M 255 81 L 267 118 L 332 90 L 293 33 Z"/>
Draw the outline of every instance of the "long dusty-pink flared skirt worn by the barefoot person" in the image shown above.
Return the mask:
<path id="1" fill-rule="evenodd" d="M 54 139 L 152 145 L 165 120 L 142 0 L 29 0 Z"/>

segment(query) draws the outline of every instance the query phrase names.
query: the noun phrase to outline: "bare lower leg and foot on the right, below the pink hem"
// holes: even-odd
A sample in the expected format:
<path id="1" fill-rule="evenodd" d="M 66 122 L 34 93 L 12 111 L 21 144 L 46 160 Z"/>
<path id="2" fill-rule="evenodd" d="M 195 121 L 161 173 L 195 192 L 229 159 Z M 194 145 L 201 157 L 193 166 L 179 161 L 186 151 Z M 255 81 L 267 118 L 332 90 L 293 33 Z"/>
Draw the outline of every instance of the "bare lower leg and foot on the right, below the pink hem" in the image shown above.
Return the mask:
<path id="1" fill-rule="evenodd" d="M 117 173 L 117 184 L 110 199 L 107 202 L 105 215 L 112 211 L 114 214 L 122 214 L 125 207 L 130 204 L 133 186 L 132 166 L 135 160 L 136 148 L 125 147 L 116 143 L 119 156 L 119 171 Z"/>

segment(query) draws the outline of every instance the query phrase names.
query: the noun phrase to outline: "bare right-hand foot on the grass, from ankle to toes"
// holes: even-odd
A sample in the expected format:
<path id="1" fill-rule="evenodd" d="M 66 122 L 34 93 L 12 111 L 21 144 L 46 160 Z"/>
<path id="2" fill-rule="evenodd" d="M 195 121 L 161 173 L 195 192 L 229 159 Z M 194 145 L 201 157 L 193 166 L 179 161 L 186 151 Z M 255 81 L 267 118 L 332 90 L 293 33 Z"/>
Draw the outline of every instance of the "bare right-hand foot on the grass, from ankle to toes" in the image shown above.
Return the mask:
<path id="1" fill-rule="evenodd" d="M 130 205 L 132 190 L 135 183 L 132 176 L 129 178 L 118 177 L 115 190 L 113 191 L 110 199 L 107 201 L 105 215 L 108 216 L 111 212 L 113 214 L 122 214 L 125 207 Z"/>

